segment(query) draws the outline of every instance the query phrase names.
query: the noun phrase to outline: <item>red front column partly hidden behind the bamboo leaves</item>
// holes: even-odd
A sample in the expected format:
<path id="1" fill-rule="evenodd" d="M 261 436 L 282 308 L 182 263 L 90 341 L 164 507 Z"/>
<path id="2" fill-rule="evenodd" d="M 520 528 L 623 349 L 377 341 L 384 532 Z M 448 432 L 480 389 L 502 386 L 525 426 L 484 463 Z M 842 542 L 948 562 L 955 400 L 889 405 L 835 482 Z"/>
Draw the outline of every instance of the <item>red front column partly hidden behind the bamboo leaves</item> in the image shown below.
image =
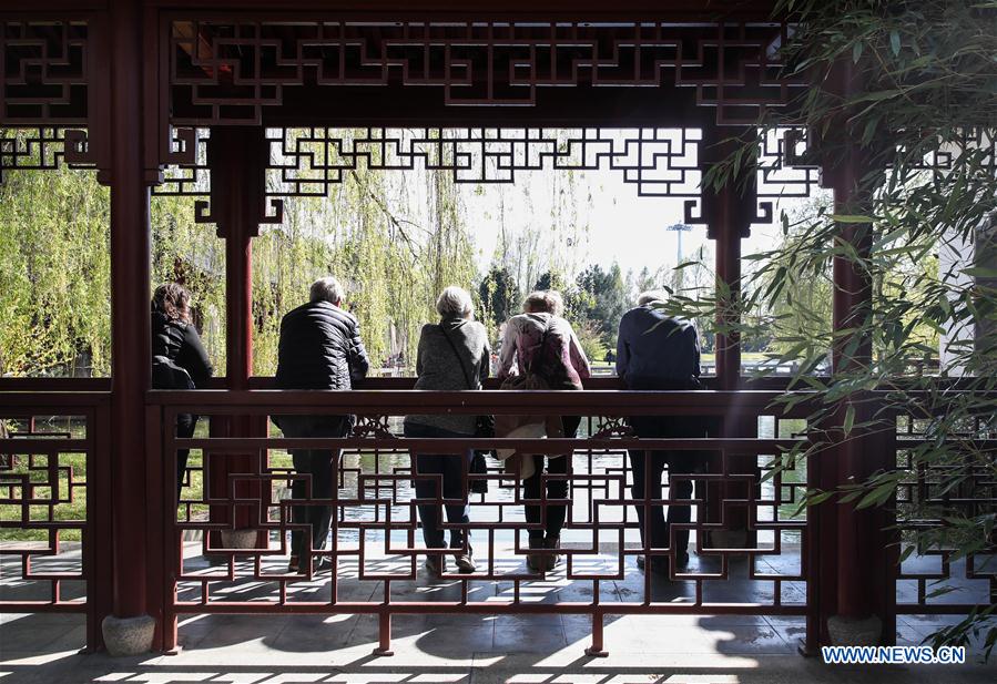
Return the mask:
<path id="1" fill-rule="evenodd" d="M 833 76 L 832 86 L 848 93 L 856 83 L 853 64 L 843 62 Z M 823 182 L 834 191 L 835 213 L 868 213 L 871 174 L 868 154 L 848 139 L 847 126 L 835 126 L 837 136 L 826 141 Z M 858 258 L 871 254 L 873 226 L 840 223 L 836 239 L 854 247 Z M 834 258 L 833 328 L 862 326 L 872 310 L 872 280 L 855 261 L 840 255 Z M 853 346 L 854 345 L 854 346 Z M 835 376 L 872 363 L 872 339 L 864 335 L 835 340 L 832 368 Z M 834 425 L 827 426 L 832 447 L 822 453 L 820 477 L 823 489 L 836 489 L 866 480 L 873 472 L 896 467 L 896 450 L 891 436 L 874 435 L 862 422 L 872 419 L 874 407 L 863 396 L 853 396 L 836 407 Z M 843 425 L 848 411 L 856 427 L 850 435 Z M 858 510 L 855 502 L 837 502 L 822 512 L 820 534 L 821 573 L 824 583 L 822 617 L 826 631 L 822 642 L 843 645 L 893 644 L 895 640 L 896 586 L 895 550 L 887 527 L 893 524 L 892 504 L 886 508 Z"/>

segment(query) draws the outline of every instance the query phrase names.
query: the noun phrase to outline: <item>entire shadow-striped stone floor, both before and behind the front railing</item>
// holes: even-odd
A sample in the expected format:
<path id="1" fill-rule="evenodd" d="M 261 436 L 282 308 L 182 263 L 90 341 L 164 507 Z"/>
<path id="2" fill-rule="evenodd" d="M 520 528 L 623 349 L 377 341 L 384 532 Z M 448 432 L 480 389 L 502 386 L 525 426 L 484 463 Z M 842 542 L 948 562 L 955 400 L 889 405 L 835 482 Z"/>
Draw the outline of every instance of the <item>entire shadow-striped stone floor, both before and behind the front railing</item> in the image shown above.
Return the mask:
<path id="1" fill-rule="evenodd" d="M 197 544 L 186 549 L 185 571 L 194 574 L 223 571 L 199 555 Z M 509 572 L 521 570 L 521 559 L 503 553 L 497 563 Z M 55 562 L 54 560 L 51 562 Z M 286 559 L 273 562 L 286 565 Z M 590 561 L 586 561 L 590 562 Z M 616 561 L 600 559 L 586 571 L 610 575 Z M 716 570 L 710 560 L 695 557 L 691 569 Z M 762 559 L 763 570 L 792 574 L 798 553 Z M 390 570 L 399 561 L 380 558 L 367 570 Z M 628 559 L 625 572 L 614 580 L 599 580 L 602 603 L 641 601 L 645 590 L 653 600 L 676 605 L 693 600 L 692 582 L 672 582 L 644 575 Z M 404 563 L 403 563 L 404 564 Z M 498 565 L 497 565 L 498 568 Z M 0 568 L 2 570 L 2 568 Z M 252 574 L 252 569 L 243 569 Z M 716 602 L 772 603 L 772 582 L 752 581 L 747 564 L 732 562 L 723 581 L 703 582 L 704 599 Z M 576 569 L 578 572 L 579 569 Z M 0 573 L 2 575 L 3 573 Z M 501 574 L 501 572 L 497 572 Z M 326 575 L 327 576 L 327 575 Z M 340 600 L 378 601 L 384 585 L 362 581 L 357 568 L 340 565 Z M 237 600 L 273 599 L 267 582 L 233 582 Z M 181 588 L 181 596 L 196 600 L 196 583 Z M 218 582 L 224 591 L 224 582 Z M 510 581 L 475 580 L 469 599 L 509 599 Z M 520 583 L 526 601 L 591 601 L 591 581 L 569 581 L 563 566 L 553 575 Z M 328 580 L 294 583 L 303 600 L 323 595 Z M 0 594 L 28 598 L 37 589 L 17 575 L 0 576 Z M 975 588 L 974 588 L 975 589 Z M 784 581 L 782 600 L 800 603 L 804 586 Z M 902 592 L 898 592 L 902 593 Z M 391 583 L 393 601 L 458 600 L 459 580 Z M 709 595 L 708 595 L 709 594 Z M 970 664 L 959 666 L 881 666 L 855 668 L 823 665 L 797 653 L 804 635 L 803 619 L 759 615 L 609 615 L 606 647 L 609 656 L 584 655 L 591 625 L 583 615 L 400 615 L 393 620 L 393 657 L 372 654 L 378 641 L 374 616 L 365 615 L 185 615 L 180 621 L 176 655 L 150 654 L 135 659 L 81 655 L 85 645 L 82 616 L 26 614 L 0 615 L 0 684 L 75 684 L 78 682 L 277 684 L 278 682 L 386 683 L 386 682 L 510 682 L 516 684 L 733 684 L 803 682 L 925 684 L 997 682 L 997 664 L 979 664 L 979 651 Z M 918 644 L 945 616 L 905 615 L 897 623 L 897 643 Z"/>

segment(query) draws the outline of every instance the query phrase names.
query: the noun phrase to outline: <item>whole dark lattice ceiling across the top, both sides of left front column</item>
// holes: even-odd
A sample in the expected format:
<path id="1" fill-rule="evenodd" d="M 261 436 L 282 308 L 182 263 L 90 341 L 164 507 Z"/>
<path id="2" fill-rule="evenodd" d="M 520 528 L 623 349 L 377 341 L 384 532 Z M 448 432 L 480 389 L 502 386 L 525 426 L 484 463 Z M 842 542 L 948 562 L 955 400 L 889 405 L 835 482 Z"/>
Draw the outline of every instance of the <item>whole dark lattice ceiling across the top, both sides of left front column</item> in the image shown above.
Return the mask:
<path id="1" fill-rule="evenodd" d="M 704 127 L 801 85 L 777 79 L 771 0 L 140 1 L 151 170 L 191 162 L 183 127 Z M 3 0 L 0 126 L 39 131 L 0 169 L 106 166 L 124 2 Z"/>

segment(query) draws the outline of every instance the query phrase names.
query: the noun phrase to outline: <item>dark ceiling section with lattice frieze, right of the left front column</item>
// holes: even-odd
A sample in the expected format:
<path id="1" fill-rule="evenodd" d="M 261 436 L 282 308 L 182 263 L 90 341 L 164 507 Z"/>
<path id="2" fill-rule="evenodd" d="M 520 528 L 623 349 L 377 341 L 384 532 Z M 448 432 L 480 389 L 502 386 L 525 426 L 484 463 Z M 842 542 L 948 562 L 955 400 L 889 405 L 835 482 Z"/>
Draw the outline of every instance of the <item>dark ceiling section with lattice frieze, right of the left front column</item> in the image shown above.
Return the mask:
<path id="1" fill-rule="evenodd" d="M 784 30 L 771 21 L 176 18 L 171 121 L 746 123 L 792 96 L 776 61 Z"/>

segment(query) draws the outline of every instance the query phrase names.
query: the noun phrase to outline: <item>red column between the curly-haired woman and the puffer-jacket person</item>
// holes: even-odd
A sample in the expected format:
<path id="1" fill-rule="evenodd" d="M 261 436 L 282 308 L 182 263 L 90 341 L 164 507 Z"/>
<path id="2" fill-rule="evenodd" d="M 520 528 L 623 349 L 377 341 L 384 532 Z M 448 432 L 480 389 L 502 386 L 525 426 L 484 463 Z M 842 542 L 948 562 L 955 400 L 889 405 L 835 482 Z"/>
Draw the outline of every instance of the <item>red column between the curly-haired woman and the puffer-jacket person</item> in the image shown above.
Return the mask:
<path id="1" fill-rule="evenodd" d="M 207 145 L 211 169 L 211 220 L 225 239 L 225 328 L 226 386 L 232 390 L 250 388 L 253 374 L 253 237 L 260 224 L 273 222 L 265 212 L 265 174 L 269 146 L 262 127 L 231 126 L 212 130 Z M 276 217 L 279 220 L 279 216 Z M 214 436 L 265 436 L 265 420 L 234 416 L 212 420 Z M 228 498 L 231 473 L 258 473 L 256 455 L 226 456 L 212 459 L 208 477 L 211 494 Z M 240 482 L 236 496 L 260 499 L 258 482 Z M 234 520 L 227 511 L 214 511 L 213 520 L 232 522 L 234 530 L 218 540 L 224 548 L 253 548 L 266 543 L 265 533 L 257 532 L 256 514 L 241 508 Z"/>

